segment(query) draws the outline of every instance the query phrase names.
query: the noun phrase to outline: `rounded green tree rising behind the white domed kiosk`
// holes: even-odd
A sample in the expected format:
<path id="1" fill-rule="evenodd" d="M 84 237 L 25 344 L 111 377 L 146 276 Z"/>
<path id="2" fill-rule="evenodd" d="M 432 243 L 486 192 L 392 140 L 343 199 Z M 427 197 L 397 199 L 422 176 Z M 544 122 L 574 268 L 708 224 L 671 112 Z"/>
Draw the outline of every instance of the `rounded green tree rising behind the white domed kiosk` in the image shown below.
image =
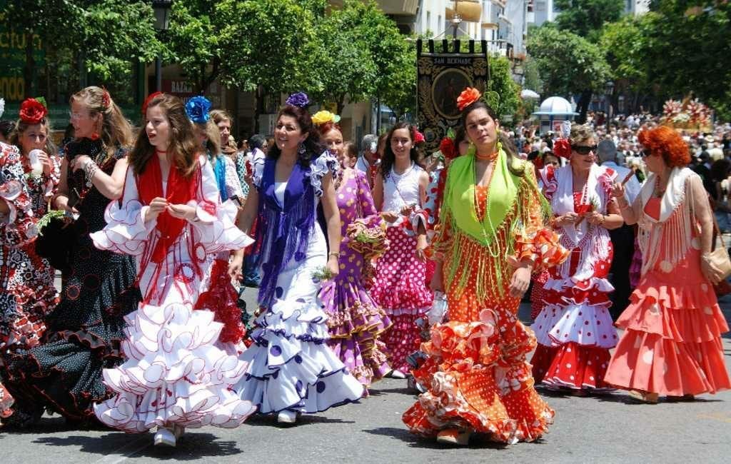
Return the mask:
<path id="1" fill-rule="evenodd" d="M 545 96 L 581 94 L 579 120 L 594 91 L 603 89 L 610 67 L 599 46 L 568 31 L 534 28 L 528 37 L 528 53 L 536 61 Z"/>

